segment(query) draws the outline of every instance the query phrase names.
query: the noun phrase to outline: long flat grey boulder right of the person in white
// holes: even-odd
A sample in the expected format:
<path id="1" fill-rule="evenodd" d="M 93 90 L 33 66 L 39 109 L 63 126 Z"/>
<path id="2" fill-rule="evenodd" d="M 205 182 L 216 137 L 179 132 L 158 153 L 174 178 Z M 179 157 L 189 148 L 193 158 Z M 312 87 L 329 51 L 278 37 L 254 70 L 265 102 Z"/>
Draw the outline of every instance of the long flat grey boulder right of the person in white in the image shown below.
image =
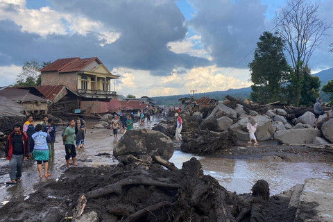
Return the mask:
<path id="1" fill-rule="evenodd" d="M 274 134 L 280 144 L 311 144 L 315 137 L 321 137 L 321 130 L 291 129 L 276 131 Z"/>

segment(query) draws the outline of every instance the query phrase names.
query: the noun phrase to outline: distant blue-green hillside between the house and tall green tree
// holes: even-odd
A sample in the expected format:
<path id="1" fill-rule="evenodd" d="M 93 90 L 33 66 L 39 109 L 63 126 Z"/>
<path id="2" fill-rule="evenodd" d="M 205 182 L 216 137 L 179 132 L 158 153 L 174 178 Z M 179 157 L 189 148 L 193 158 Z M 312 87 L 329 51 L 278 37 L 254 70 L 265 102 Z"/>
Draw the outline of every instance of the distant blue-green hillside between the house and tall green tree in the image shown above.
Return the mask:
<path id="1" fill-rule="evenodd" d="M 199 99 L 202 96 L 207 96 L 210 99 L 216 99 L 216 100 L 223 100 L 224 96 L 230 95 L 235 98 L 249 98 L 250 93 L 252 92 L 251 87 L 241 88 L 241 89 L 228 89 L 226 91 L 215 91 L 215 92 L 205 92 L 205 93 L 198 93 L 194 94 L 195 99 Z M 153 100 L 156 101 L 157 105 L 178 105 L 178 99 L 183 97 L 190 97 L 190 94 L 182 94 L 182 95 L 175 95 L 175 96 L 157 96 L 152 97 Z"/>

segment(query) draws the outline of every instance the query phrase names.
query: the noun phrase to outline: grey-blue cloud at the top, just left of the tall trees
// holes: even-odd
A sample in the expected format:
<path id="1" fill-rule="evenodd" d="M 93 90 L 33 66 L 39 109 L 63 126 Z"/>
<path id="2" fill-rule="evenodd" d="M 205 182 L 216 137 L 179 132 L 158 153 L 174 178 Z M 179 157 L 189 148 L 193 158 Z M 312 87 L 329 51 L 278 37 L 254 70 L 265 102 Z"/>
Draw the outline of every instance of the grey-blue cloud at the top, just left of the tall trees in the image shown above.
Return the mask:
<path id="1" fill-rule="evenodd" d="M 190 0 L 196 10 L 189 25 L 198 32 L 219 67 L 234 67 L 255 46 L 267 31 L 266 6 L 259 0 Z M 247 67 L 253 53 L 239 67 Z"/>

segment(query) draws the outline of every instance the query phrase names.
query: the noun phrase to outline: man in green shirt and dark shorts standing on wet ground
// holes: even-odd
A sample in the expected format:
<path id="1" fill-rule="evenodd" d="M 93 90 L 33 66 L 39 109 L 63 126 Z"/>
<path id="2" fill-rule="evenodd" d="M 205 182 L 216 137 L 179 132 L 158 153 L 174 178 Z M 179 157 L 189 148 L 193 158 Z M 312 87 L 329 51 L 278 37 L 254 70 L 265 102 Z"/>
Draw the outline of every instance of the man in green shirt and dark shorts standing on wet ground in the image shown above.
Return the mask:
<path id="1" fill-rule="evenodd" d="M 64 136 L 62 137 L 62 142 L 65 145 L 66 151 L 66 166 L 69 167 L 69 159 L 73 160 L 73 166 L 76 166 L 76 148 L 75 148 L 75 119 L 69 120 L 69 126 L 64 131 Z"/>

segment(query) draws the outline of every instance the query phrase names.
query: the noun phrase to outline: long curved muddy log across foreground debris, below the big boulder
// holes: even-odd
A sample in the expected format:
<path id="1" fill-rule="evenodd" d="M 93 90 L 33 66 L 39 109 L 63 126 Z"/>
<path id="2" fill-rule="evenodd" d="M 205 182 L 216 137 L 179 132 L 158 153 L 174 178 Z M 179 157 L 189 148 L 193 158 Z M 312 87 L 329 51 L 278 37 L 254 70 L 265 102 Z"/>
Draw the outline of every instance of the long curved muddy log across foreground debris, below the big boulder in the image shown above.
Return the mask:
<path id="1" fill-rule="evenodd" d="M 85 197 L 87 199 L 98 198 L 100 196 L 105 196 L 108 194 L 121 194 L 121 190 L 123 187 L 128 185 L 147 185 L 147 186 L 155 186 L 155 187 L 164 187 L 169 189 L 178 189 L 179 185 L 169 184 L 164 182 L 158 182 L 156 180 L 152 180 L 151 178 L 146 178 L 142 176 L 133 176 L 132 178 L 126 178 L 123 180 L 119 180 L 112 185 L 108 185 L 103 188 L 95 189 L 93 191 L 89 191 Z"/>

